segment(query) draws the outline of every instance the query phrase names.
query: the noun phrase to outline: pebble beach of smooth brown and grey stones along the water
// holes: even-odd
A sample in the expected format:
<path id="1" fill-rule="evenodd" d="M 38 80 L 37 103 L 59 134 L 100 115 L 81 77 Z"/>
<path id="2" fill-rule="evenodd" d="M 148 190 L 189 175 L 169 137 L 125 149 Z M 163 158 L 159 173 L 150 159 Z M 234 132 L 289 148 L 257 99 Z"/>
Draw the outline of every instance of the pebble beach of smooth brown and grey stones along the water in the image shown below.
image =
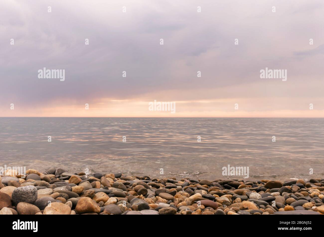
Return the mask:
<path id="1" fill-rule="evenodd" d="M 54 167 L 16 172 L 0 177 L 0 214 L 324 214 L 324 178 L 177 180 Z"/>

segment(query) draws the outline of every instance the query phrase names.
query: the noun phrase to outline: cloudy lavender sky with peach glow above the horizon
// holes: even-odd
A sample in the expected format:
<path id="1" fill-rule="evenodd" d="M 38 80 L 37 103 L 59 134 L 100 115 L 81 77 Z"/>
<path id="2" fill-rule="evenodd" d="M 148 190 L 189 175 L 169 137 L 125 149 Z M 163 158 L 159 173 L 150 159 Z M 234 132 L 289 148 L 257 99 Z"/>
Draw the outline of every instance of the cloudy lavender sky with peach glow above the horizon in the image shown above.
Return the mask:
<path id="1" fill-rule="evenodd" d="M 324 117 L 323 10 L 321 0 L 0 0 L 0 117 Z M 64 81 L 39 78 L 44 67 Z M 266 67 L 287 80 L 260 78 Z M 154 100 L 175 113 L 149 110 Z"/>

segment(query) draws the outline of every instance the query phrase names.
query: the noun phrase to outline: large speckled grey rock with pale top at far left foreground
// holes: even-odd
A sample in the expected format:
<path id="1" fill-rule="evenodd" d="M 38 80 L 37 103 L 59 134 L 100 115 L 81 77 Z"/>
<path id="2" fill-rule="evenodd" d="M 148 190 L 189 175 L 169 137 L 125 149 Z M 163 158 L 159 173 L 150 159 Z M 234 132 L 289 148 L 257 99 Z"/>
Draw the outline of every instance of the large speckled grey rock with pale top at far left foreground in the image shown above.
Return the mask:
<path id="1" fill-rule="evenodd" d="M 37 188 L 35 186 L 18 187 L 12 192 L 11 200 L 14 204 L 19 202 L 33 204 L 37 200 Z"/>

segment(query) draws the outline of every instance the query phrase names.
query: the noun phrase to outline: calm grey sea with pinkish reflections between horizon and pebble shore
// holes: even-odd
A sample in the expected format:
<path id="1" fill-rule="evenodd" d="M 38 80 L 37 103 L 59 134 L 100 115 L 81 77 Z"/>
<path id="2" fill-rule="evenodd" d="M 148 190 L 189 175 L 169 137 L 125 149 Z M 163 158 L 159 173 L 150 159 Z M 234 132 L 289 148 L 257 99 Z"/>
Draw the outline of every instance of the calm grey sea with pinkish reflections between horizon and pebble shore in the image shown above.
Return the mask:
<path id="1" fill-rule="evenodd" d="M 309 179 L 323 176 L 324 119 L 0 118 L 4 164 L 207 179 L 229 164 L 249 166 L 249 180 Z"/>

